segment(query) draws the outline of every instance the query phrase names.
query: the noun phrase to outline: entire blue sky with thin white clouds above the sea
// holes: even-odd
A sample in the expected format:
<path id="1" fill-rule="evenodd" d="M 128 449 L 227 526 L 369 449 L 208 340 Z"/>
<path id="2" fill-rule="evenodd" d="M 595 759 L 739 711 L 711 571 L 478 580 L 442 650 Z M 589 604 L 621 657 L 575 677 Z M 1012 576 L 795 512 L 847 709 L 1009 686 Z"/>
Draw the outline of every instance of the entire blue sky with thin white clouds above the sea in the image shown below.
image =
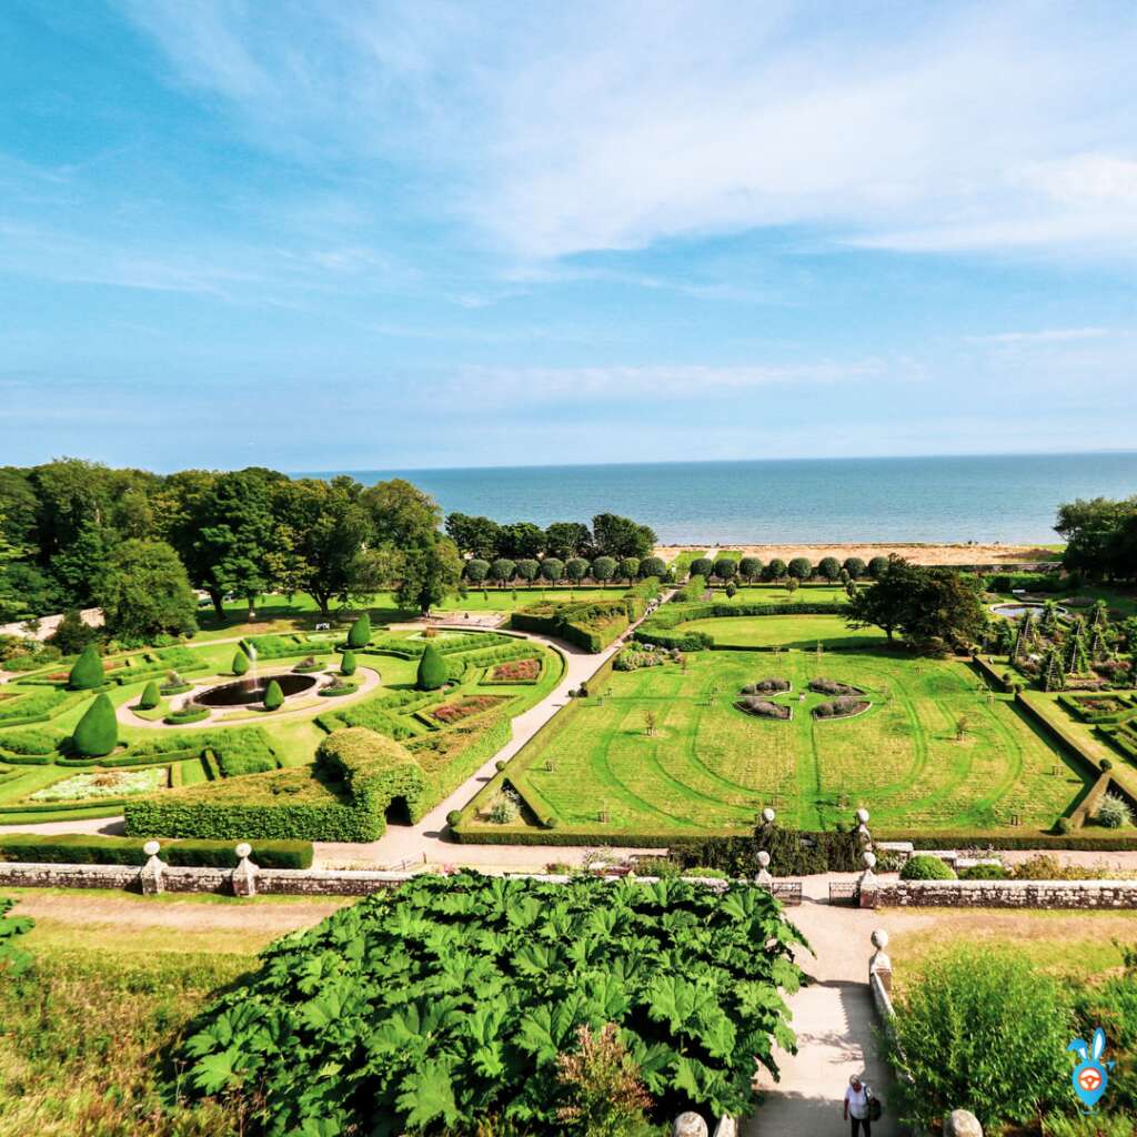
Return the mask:
<path id="1" fill-rule="evenodd" d="M 1132 448 L 1122 3 L 0 6 L 0 462 Z"/>

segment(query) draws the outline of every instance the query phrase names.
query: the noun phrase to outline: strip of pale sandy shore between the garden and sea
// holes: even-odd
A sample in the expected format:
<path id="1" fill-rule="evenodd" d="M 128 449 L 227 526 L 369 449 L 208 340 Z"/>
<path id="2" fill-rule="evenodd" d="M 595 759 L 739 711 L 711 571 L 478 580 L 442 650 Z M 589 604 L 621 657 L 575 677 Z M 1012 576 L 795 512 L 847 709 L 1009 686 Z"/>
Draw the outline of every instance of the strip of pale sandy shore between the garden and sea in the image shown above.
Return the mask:
<path id="1" fill-rule="evenodd" d="M 657 545 L 655 555 L 664 561 L 673 561 L 680 553 L 708 551 L 712 556 L 720 550 L 741 553 L 744 556 L 755 556 L 763 562 L 774 557 L 789 562 L 794 557 L 807 557 L 814 564 L 822 557 L 860 557 L 870 561 L 872 557 L 888 556 L 890 553 L 921 565 L 1018 565 L 1062 559 L 1059 549 L 1044 545 L 1003 545 L 997 541 L 935 542 L 935 541 L 833 541 L 813 543 L 772 543 L 772 545 L 716 545 L 709 542 L 699 545 Z"/>

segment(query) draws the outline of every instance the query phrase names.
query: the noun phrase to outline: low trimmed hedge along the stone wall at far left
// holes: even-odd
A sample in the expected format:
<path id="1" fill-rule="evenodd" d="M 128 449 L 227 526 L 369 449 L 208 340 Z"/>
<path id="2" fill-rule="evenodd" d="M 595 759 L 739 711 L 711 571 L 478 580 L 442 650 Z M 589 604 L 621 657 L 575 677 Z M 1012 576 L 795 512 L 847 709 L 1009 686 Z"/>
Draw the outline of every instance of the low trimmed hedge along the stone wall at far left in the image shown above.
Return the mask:
<path id="1" fill-rule="evenodd" d="M 35 864 L 143 865 L 149 860 L 138 837 L 97 837 L 86 833 L 5 833 L 0 836 L 0 861 Z M 166 864 L 194 869 L 235 869 L 232 841 L 164 841 L 158 854 Z M 262 869 L 310 869 L 312 841 L 262 841 L 252 848 L 252 861 Z"/>

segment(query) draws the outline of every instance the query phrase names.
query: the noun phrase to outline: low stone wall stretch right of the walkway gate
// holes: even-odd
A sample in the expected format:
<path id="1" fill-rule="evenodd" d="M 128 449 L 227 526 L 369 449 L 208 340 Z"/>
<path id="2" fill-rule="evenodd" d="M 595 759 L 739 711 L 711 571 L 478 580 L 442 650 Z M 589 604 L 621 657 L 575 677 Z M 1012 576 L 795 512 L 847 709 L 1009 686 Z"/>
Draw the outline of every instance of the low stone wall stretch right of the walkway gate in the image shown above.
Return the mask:
<path id="1" fill-rule="evenodd" d="M 1137 880 L 885 880 L 862 907 L 1137 908 Z"/>

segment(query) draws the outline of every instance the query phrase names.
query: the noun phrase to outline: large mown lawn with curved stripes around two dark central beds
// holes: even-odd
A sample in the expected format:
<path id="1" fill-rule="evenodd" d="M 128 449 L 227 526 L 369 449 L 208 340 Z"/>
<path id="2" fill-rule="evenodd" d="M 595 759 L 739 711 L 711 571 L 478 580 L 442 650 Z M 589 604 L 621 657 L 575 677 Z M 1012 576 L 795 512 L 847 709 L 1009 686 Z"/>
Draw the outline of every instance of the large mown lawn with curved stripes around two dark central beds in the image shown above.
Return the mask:
<path id="1" fill-rule="evenodd" d="M 988 694 L 956 661 L 887 650 L 820 661 L 813 652 L 775 659 L 716 650 L 688 661 L 686 672 L 669 664 L 613 673 L 603 694 L 526 747 L 507 775 L 539 816 L 556 816 L 562 832 L 633 838 L 746 830 L 765 805 L 800 828 L 831 828 L 863 805 L 881 829 L 1022 835 L 1048 829 L 1086 788 L 1007 697 Z M 771 675 L 794 684 L 781 697 L 794 709 L 789 722 L 733 706 L 745 683 Z M 818 675 L 863 688 L 871 708 L 814 719 L 822 697 L 798 695 Z"/>

